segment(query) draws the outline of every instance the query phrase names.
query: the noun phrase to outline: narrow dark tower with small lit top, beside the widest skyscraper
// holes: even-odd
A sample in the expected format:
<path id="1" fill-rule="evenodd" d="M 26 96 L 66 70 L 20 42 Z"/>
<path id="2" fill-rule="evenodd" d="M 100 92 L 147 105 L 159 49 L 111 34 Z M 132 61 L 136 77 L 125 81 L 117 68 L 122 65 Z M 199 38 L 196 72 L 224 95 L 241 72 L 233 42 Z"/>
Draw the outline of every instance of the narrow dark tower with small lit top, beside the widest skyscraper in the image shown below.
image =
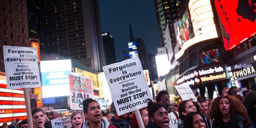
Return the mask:
<path id="1" fill-rule="evenodd" d="M 109 32 L 102 33 L 106 65 L 116 63 L 114 38 Z"/>

